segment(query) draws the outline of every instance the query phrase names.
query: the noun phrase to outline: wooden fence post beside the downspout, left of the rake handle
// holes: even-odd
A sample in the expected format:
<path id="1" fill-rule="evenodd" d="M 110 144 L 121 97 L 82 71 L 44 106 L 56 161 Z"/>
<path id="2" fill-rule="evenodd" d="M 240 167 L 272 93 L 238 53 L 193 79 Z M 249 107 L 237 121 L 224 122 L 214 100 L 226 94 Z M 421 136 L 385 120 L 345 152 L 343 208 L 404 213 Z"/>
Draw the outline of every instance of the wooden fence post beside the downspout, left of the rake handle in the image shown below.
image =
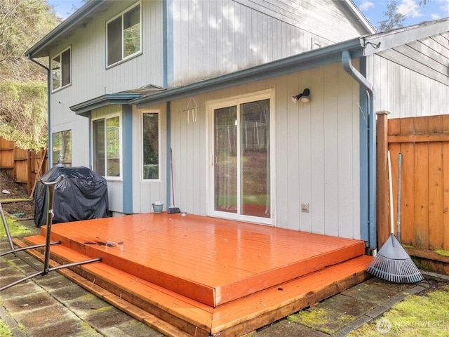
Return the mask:
<path id="1" fill-rule="evenodd" d="M 388 111 L 377 112 L 377 250 L 390 234 L 388 192 Z"/>

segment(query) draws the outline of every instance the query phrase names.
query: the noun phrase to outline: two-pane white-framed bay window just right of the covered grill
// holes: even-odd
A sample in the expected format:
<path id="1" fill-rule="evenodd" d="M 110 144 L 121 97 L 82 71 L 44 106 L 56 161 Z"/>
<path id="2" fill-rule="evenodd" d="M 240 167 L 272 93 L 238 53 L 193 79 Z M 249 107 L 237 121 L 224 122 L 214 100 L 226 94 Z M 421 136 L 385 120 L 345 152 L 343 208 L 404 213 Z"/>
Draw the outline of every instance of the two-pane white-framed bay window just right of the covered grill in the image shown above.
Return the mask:
<path id="1" fill-rule="evenodd" d="M 93 171 L 106 178 L 119 177 L 121 171 L 120 117 L 95 119 L 93 132 Z"/>

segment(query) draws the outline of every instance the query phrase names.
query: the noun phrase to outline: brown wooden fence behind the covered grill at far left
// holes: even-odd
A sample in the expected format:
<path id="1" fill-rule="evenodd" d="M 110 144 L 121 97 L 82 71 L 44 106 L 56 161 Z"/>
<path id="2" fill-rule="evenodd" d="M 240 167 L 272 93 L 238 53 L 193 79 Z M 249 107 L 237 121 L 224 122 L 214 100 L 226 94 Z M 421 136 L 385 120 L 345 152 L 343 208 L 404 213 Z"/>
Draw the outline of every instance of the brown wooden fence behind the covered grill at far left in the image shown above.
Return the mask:
<path id="1" fill-rule="evenodd" d="M 32 197 L 36 180 L 48 171 L 47 150 L 20 149 L 15 142 L 0 137 L 0 169 L 25 187 Z"/>

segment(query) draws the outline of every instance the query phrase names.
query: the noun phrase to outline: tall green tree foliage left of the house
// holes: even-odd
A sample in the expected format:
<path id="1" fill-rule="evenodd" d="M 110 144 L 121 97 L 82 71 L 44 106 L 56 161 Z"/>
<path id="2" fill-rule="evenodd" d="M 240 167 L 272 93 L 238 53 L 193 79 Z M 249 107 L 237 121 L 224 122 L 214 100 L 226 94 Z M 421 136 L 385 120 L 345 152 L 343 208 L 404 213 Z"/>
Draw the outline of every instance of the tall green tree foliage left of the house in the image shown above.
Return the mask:
<path id="1" fill-rule="evenodd" d="M 47 0 L 0 1 L 0 136 L 24 148 L 47 141 L 46 72 L 24 53 L 59 22 Z"/>

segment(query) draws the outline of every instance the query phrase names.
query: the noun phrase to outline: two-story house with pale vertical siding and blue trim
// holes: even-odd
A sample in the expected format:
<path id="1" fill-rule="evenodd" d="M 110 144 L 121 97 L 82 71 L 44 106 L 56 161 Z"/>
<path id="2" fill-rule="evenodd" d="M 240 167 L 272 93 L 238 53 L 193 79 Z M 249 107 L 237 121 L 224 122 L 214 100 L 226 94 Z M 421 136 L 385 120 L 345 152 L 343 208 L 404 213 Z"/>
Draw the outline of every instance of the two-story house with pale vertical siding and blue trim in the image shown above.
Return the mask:
<path id="1" fill-rule="evenodd" d="M 351 0 L 90 0 L 26 54 L 50 64 L 51 160 L 105 176 L 114 215 L 161 201 L 375 249 L 375 111 L 436 92 L 444 113 L 448 30 L 375 34 Z"/>

